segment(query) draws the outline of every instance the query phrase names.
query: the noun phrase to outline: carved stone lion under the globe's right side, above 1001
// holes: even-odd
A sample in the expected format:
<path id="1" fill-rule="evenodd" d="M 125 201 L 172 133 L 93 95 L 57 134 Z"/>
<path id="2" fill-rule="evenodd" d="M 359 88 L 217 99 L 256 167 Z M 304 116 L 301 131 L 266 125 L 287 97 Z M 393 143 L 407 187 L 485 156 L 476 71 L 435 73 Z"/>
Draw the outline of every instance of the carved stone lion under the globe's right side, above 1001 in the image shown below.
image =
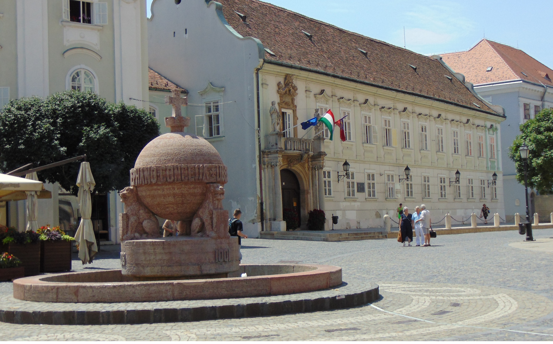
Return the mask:
<path id="1" fill-rule="evenodd" d="M 196 237 L 217 237 L 217 228 L 213 228 L 213 211 L 222 209 L 225 189 L 219 184 L 207 184 L 206 197 L 200 209 L 192 219 L 190 235 Z"/>

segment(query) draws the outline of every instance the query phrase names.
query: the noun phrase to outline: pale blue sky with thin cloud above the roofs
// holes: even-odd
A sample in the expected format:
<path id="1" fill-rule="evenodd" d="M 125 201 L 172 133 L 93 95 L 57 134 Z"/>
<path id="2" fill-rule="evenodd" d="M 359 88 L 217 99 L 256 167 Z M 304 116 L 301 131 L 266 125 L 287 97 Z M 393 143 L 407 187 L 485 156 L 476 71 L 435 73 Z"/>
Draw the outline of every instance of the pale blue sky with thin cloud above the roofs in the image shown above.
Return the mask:
<path id="1" fill-rule="evenodd" d="M 148 16 L 152 1 L 147 0 Z M 553 0 L 267 2 L 419 54 L 468 50 L 485 37 L 553 69 Z"/>

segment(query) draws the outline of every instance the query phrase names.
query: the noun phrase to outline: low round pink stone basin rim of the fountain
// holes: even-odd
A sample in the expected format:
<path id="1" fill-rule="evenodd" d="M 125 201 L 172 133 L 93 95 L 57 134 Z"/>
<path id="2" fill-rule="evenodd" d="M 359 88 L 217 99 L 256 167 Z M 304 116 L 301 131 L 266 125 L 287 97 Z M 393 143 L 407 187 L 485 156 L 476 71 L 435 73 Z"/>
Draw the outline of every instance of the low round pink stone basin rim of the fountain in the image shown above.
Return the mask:
<path id="1" fill-rule="evenodd" d="M 239 277 L 242 273 L 248 277 Z M 342 284 L 342 268 L 312 264 L 241 264 L 228 278 L 141 281 L 121 270 L 72 272 L 19 278 L 13 297 L 61 303 L 246 298 L 303 293 Z"/>

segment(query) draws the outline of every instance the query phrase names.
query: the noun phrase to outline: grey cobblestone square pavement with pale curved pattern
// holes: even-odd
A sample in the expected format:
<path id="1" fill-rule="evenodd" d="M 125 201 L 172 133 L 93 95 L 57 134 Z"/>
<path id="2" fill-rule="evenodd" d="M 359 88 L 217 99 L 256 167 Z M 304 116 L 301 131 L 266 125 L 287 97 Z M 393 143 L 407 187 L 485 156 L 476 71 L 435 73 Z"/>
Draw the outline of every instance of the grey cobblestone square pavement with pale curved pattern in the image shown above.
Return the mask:
<path id="1" fill-rule="evenodd" d="M 553 230 L 536 230 L 534 237 L 553 237 Z M 432 239 L 431 247 L 403 247 L 394 239 L 245 239 L 243 263 L 293 260 L 338 265 L 345 282 L 378 283 L 382 299 L 353 309 L 172 324 L 0 323 L 0 336 L 3 340 L 551 341 L 551 254 L 509 246 L 521 240 L 516 231 L 443 235 Z M 93 264 L 74 261 L 74 268 L 117 264 L 117 252 L 101 252 Z M 11 284 L 0 283 L 0 288 Z"/>

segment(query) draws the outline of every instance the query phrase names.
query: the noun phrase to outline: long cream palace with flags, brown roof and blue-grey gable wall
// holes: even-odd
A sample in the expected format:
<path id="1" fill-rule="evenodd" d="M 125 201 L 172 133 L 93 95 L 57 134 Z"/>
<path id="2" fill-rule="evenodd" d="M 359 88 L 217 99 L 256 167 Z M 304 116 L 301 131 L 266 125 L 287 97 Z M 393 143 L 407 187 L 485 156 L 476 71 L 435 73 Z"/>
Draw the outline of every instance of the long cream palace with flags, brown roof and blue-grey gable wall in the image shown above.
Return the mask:
<path id="1" fill-rule="evenodd" d="M 187 130 L 221 153 L 223 206 L 243 210 L 249 236 L 285 230 L 286 209 L 300 228 L 324 210 L 327 230 L 331 215 L 334 228 L 382 227 L 399 203 L 426 204 L 432 222 L 448 212 L 466 220 L 483 203 L 504 218 L 504 110 L 439 56 L 256 0 L 154 0 L 152 13 L 149 65 L 188 91 Z M 329 109 L 347 115 L 345 142 L 337 127 L 330 140 L 298 126 Z"/>

